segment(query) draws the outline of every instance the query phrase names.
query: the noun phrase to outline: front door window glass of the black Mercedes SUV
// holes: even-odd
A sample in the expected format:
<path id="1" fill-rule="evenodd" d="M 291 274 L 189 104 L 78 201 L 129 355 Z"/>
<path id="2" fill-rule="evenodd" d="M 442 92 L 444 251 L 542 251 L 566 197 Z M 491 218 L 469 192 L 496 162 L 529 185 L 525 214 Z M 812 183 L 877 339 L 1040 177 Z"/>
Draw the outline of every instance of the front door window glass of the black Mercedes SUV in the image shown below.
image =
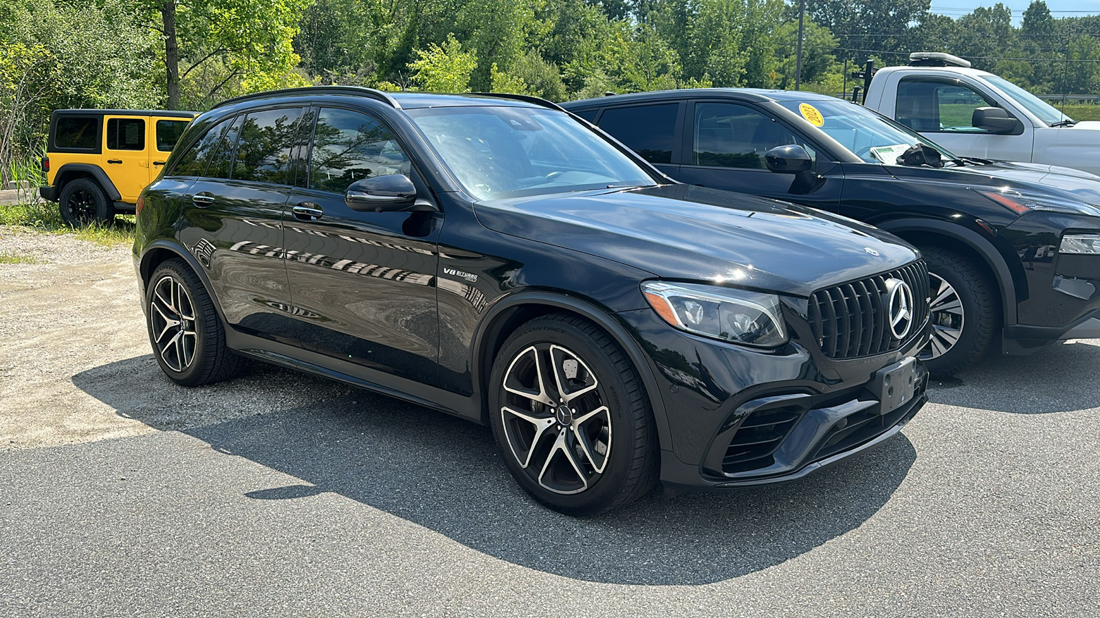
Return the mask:
<path id="1" fill-rule="evenodd" d="M 409 158 L 388 129 L 365 113 L 322 109 L 309 159 L 309 188 L 344 192 L 355 180 L 409 174 Z"/>

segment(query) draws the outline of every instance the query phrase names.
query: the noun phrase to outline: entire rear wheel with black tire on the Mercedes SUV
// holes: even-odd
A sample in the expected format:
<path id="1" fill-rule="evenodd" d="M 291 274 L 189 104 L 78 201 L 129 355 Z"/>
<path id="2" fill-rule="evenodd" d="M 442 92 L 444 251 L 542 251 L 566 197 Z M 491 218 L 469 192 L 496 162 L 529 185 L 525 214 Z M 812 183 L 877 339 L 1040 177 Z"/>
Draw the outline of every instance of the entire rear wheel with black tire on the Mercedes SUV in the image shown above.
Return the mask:
<path id="1" fill-rule="evenodd" d="M 241 357 L 226 346 L 226 329 L 210 295 L 183 260 L 168 260 L 153 271 L 145 309 L 153 356 L 177 384 L 211 384 L 240 369 Z"/>

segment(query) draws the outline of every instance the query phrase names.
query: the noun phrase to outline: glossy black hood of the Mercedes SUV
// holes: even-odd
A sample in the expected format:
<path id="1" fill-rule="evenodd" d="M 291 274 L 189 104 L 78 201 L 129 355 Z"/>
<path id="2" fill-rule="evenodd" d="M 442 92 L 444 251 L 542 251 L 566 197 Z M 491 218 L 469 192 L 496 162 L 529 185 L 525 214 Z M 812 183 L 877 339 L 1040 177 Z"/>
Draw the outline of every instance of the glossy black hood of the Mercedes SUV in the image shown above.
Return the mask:
<path id="1" fill-rule="evenodd" d="M 662 278 L 810 296 L 916 258 L 866 224 L 690 185 L 477 202 L 486 228 L 613 260 Z"/>

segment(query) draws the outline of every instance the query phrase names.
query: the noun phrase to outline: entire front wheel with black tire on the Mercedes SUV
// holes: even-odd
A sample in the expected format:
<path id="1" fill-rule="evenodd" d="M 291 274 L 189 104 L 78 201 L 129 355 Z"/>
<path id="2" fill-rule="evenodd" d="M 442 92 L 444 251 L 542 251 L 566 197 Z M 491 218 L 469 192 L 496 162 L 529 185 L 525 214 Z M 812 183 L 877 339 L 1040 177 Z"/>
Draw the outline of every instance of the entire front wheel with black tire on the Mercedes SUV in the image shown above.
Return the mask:
<path id="1" fill-rule="evenodd" d="M 551 383 L 541 388 L 542 401 L 535 379 L 540 374 L 543 384 Z M 657 430 L 641 380 L 615 341 L 592 322 L 550 314 L 516 329 L 493 363 L 488 402 L 508 471 L 554 510 L 607 511 L 657 483 Z"/>

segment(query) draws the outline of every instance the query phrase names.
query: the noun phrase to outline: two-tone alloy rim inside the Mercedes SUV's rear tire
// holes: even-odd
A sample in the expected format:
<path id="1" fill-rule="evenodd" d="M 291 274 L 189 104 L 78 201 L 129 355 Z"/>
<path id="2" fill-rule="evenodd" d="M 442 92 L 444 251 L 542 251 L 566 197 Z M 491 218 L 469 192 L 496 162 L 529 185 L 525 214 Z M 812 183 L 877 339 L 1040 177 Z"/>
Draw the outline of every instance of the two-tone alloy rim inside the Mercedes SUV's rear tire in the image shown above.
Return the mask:
<path id="1" fill-rule="evenodd" d="M 195 306 L 184 284 L 170 275 L 161 277 L 150 301 L 153 344 L 161 360 L 174 372 L 183 373 L 195 361 L 198 331 Z"/>

